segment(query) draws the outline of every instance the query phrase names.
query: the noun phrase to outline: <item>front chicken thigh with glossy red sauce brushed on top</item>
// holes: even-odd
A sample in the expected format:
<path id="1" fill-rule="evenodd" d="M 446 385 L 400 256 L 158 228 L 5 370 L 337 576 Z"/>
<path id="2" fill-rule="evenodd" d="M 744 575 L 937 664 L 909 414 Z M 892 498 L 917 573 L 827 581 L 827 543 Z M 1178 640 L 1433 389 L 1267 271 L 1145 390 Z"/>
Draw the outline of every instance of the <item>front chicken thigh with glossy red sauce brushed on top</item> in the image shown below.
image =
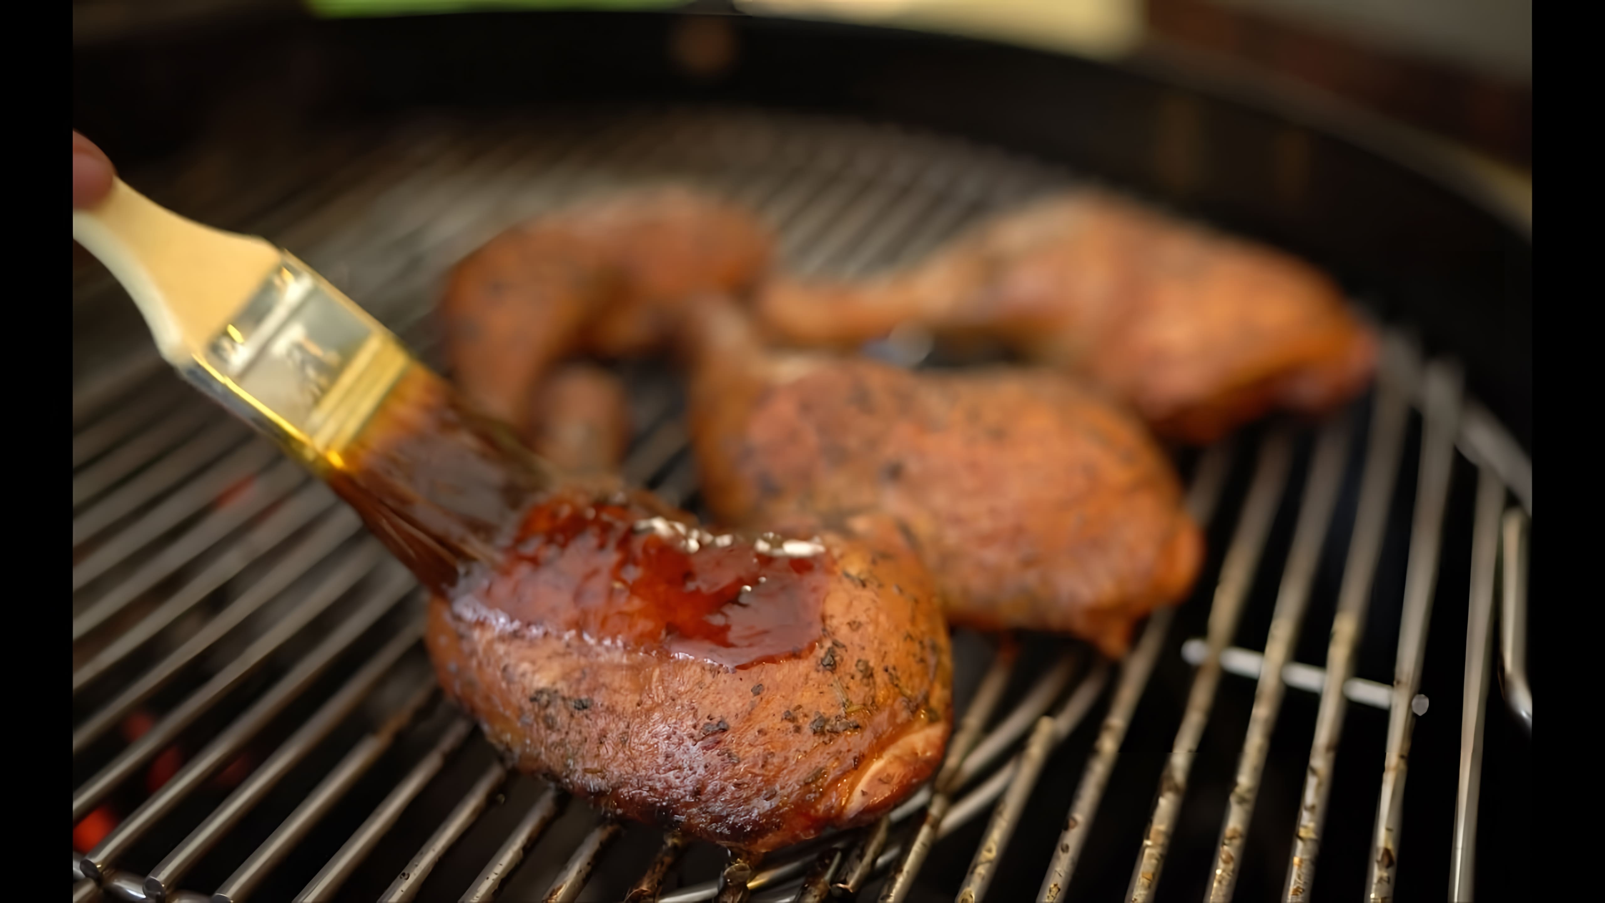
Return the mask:
<path id="1" fill-rule="evenodd" d="M 761 853 L 889 811 L 952 721 L 924 570 L 896 541 L 682 517 L 591 495 L 533 508 L 517 554 L 430 603 L 441 686 L 518 768 L 695 837 Z"/>

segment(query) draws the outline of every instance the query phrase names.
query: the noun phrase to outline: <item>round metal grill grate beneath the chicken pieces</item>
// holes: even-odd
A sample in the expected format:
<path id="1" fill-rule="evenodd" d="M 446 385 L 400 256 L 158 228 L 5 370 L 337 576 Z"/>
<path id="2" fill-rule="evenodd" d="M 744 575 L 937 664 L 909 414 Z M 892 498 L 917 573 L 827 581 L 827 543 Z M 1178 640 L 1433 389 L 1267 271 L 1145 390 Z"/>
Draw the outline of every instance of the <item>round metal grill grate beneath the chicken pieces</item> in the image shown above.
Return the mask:
<path id="1" fill-rule="evenodd" d="M 151 190 L 177 209 L 295 249 L 425 358 L 435 355 L 427 313 L 445 268 L 507 225 L 589 191 L 660 178 L 700 183 L 766 215 L 790 267 L 855 275 L 916 257 L 977 215 L 1069 183 L 1053 169 L 953 140 L 727 111 L 424 122 L 332 146 L 366 151 L 337 167 L 273 174 L 273 191 Z M 313 149 L 307 159 L 327 156 Z M 79 272 L 74 286 L 80 320 L 116 317 L 119 292 L 104 273 Z M 74 852 L 74 900 L 202 900 L 194 892 L 207 890 L 218 901 L 544 893 L 690 903 L 743 893 L 822 900 L 876 884 L 881 900 L 923 900 L 933 890 L 921 876 L 942 872 L 950 887 L 936 898 L 957 889 L 974 901 L 1003 877 L 1018 881 L 1019 869 L 1030 871 L 1027 884 L 1045 872 L 1045 900 L 1083 898 L 1074 882 L 1091 861 L 1095 831 L 1117 818 L 1115 802 L 1138 808 L 1130 795 L 1111 795 L 1122 779 L 1152 794 L 1143 797 L 1148 826 L 1128 848 L 1132 900 L 1154 898 L 1162 876 L 1193 885 L 1202 877 L 1209 900 L 1228 900 L 1245 845 L 1287 834 L 1294 858 L 1282 869 L 1284 892 L 1298 898 L 1316 876 L 1327 810 L 1369 811 L 1377 799 L 1369 861 L 1382 866 L 1366 881 L 1372 898 L 1385 900 L 1395 869 L 1411 869 L 1409 850 L 1398 850 L 1404 762 L 1425 712 L 1417 691 L 1438 559 L 1444 537 L 1461 535 L 1444 524 L 1469 488 L 1453 479 L 1462 458 L 1477 488 L 1469 628 L 1459 646 L 1465 701 L 1451 898 L 1470 898 L 1483 701 L 1496 654 L 1504 694 L 1531 725 L 1531 466 L 1464 397 L 1453 365 L 1422 363 L 1390 337 L 1377 392 L 1351 411 L 1313 431 L 1266 424 L 1184 461 L 1189 505 L 1213 524 L 1212 546 L 1225 551 L 1205 572 L 1218 569 L 1218 577 L 1188 606 L 1154 615 L 1124 664 L 1096 660 L 1074 643 L 1032 638 L 1021 651 L 998 651 L 960 635 L 963 718 L 931 787 L 868 829 L 762 863 L 724 861 L 677 836 L 597 819 L 567 807 L 555 789 L 509 774 L 469 721 L 440 702 L 411 578 L 356 517 L 178 386 L 152 355 L 93 365 L 144 347 L 138 329 L 117 339 L 75 347 L 72 810 L 75 844 L 91 848 Z M 626 476 L 695 505 L 677 392 L 650 366 L 628 376 L 639 440 Z M 1414 487 L 1414 500 L 1396 484 Z M 1403 530 L 1395 524 L 1401 509 L 1412 517 Z M 1392 546 L 1408 546 L 1396 556 L 1401 590 L 1384 574 L 1400 567 L 1390 564 Z M 1334 577 L 1326 570 L 1335 582 L 1323 578 Z M 1398 622 L 1396 641 L 1387 630 L 1372 641 L 1372 620 Z M 1300 638 L 1326 619 L 1334 619 L 1326 670 L 1298 664 Z M 1186 639 L 1193 625 L 1205 635 Z M 1234 646 L 1260 638 L 1263 652 Z M 1396 651 L 1392 686 L 1358 676 L 1372 673 L 1361 652 L 1379 648 Z M 1143 704 L 1170 659 L 1196 665 L 1176 672 L 1184 704 L 1175 718 Z M 1199 834 L 1183 803 L 1201 744 L 1218 723 L 1212 712 L 1250 693 L 1234 678 L 1257 683 L 1247 726 L 1226 728 L 1236 731 L 1225 741 L 1236 757 L 1225 779 L 1231 792 L 1205 813 L 1213 868 L 1176 877 L 1178 864 L 1164 866 L 1183 834 Z M 1314 750 L 1297 824 L 1270 823 L 1263 811 L 1252 818 L 1268 763 L 1305 773 L 1271 754 L 1284 688 L 1319 707 L 1314 742 L 1305 731 L 1294 744 Z M 1388 712 L 1387 768 L 1380 791 L 1372 781 L 1364 799 L 1334 800 L 1339 739 L 1353 721 L 1348 702 Z M 1159 768 L 1120 774 L 1167 741 Z M 1051 829 L 1040 827 L 1042 813 L 1030 818 L 1042 807 L 1054 810 Z M 968 844 L 955 855 L 973 855 L 961 874 L 957 861 L 928 863 L 933 850 L 952 848 L 942 845 L 947 837 Z M 1432 881 L 1444 877 L 1427 876 L 1422 887 Z"/>

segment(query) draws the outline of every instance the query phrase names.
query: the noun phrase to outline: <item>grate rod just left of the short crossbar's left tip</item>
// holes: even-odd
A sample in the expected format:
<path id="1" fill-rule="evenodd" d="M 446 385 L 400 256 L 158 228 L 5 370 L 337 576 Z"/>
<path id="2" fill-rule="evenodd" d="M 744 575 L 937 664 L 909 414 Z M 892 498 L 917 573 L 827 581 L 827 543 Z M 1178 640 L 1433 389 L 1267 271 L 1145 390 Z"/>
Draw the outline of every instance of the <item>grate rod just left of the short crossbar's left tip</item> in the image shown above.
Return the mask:
<path id="1" fill-rule="evenodd" d="M 1210 447 L 1204 453 L 1204 460 L 1199 461 L 1197 474 L 1193 477 L 1193 487 L 1188 492 L 1188 511 L 1199 524 L 1209 524 L 1215 514 L 1215 505 L 1220 501 L 1220 493 L 1226 484 L 1226 472 L 1231 468 L 1231 453 L 1233 448 L 1228 440 Z M 1154 665 L 1159 662 L 1159 652 L 1173 619 L 1173 609 L 1160 609 L 1149 615 L 1148 625 L 1143 628 L 1143 638 L 1120 665 L 1120 680 L 1115 684 L 1114 699 L 1109 702 L 1109 712 L 1104 715 L 1103 726 L 1098 728 L 1098 741 L 1093 744 L 1093 754 L 1082 770 L 1082 779 L 1075 787 L 1075 797 L 1071 802 L 1064 831 L 1059 834 L 1053 860 L 1048 863 L 1048 872 L 1043 876 L 1042 889 L 1037 892 L 1038 900 L 1043 903 L 1063 898 L 1064 890 L 1071 884 L 1071 876 L 1080 861 L 1082 845 L 1087 844 L 1087 831 L 1098 813 L 1103 792 L 1109 786 L 1109 774 L 1114 771 L 1120 744 L 1132 726 L 1132 715 L 1143 697 L 1148 678 L 1154 673 Z"/>

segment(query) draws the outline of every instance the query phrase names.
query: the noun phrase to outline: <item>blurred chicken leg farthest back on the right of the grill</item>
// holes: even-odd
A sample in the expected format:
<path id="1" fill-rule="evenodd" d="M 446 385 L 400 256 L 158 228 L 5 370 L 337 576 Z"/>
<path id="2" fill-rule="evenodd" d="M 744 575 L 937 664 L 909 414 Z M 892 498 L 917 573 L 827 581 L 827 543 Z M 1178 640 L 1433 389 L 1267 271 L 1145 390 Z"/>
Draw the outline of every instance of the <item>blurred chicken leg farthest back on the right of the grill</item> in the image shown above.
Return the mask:
<path id="1" fill-rule="evenodd" d="M 775 280 L 759 310 L 775 337 L 804 345 L 857 345 L 904 323 L 1002 342 L 1197 443 L 1270 410 L 1334 408 L 1375 362 L 1371 331 L 1321 273 L 1093 191 L 998 217 L 904 272 Z"/>

